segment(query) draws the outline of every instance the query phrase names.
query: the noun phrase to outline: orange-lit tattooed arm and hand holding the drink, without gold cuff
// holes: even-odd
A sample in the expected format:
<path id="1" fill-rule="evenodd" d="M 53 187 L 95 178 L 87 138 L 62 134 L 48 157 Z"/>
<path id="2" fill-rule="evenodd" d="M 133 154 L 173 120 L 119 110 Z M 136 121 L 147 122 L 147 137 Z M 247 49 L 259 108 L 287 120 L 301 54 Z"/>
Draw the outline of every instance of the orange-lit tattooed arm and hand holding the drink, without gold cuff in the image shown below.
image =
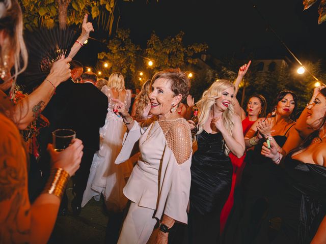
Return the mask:
<path id="1" fill-rule="evenodd" d="M 60 199 L 43 193 L 30 204 L 22 141 L 15 125 L 1 113 L 0 134 L 0 243 L 46 243 Z M 61 153 L 51 150 L 52 167 L 64 168 L 72 175 L 79 167 L 82 149 L 82 142 L 76 139 Z"/>

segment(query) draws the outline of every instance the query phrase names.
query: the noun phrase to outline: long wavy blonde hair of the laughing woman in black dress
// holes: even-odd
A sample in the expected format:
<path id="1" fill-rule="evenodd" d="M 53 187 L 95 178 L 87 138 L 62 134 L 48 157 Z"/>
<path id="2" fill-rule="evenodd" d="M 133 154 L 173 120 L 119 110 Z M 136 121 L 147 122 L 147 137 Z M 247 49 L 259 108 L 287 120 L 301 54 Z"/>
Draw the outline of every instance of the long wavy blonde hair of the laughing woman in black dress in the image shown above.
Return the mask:
<path id="1" fill-rule="evenodd" d="M 206 123 L 209 113 L 212 109 L 212 106 L 215 104 L 215 100 L 222 97 L 223 90 L 233 87 L 234 85 L 228 80 L 216 80 L 205 92 L 203 93 L 202 98 L 197 102 L 197 107 L 199 110 L 199 123 L 198 123 L 198 133 L 202 133 L 204 130 L 204 124 Z M 234 115 L 234 104 L 231 102 L 228 108 L 222 113 L 222 121 L 225 126 L 227 132 L 232 135 L 232 130 L 234 127 L 234 123 L 232 121 L 232 117 Z M 226 156 L 229 155 L 230 149 L 225 144 L 224 153 Z"/>

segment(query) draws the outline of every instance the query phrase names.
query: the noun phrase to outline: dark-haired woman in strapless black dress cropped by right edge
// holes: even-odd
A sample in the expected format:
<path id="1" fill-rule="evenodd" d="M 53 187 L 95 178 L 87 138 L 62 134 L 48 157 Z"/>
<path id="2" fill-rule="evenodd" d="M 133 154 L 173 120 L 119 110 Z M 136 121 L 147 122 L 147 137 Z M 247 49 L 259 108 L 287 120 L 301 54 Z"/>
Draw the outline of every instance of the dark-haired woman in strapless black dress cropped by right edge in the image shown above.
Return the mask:
<path id="1" fill-rule="evenodd" d="M 270 148 L 266 143 L 262 147 L 261 154 L 276 164 L 284 158 L 282 178 L 285 180 L 281 181 L 285 184 L 273 186 L 280 195 L 271 196 L 269 201 L 274 216 L 282 223 L 281 228 L 275 230 L 273 243 L 326 242 L 326 89 L 321 88 L 315 88 L 311 103 L 298 119 L 304 120 L 306 127 L 314 131 L 299 146 L 292 143 L 292 150 L 285 157 L 275 141 L 271 141 Z M 277 204 L 280 201 L 281 204 Z"/>

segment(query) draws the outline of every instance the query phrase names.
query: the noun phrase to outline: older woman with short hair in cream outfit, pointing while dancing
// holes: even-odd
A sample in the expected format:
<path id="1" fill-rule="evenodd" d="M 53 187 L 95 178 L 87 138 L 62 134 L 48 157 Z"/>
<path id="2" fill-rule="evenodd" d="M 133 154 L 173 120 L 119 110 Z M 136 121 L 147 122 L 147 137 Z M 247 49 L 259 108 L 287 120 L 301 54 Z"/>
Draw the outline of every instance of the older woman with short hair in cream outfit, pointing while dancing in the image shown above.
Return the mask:
<path id="1" fill-rule="evenodd" d="M 152 233 L 156 243 L 168 243 L 175 221 L 187 223 L 192 139 L 189 125 L 177 108 L 188 95 L 189 85 L 187 75 L 180 70 L 164 70 L 153 76 L 150 113 L 157 120 L 153 117 L 138 123 L 123 103 L 113 100 L 117 115 L 128 128 L 116 163 L 130 157 L 137 141 L 140 149 L 137 165 L 123 189 L 131 204 L 118 243 L 147 243 Z M 158 221 L 159 230 L 153 232 Z"/>

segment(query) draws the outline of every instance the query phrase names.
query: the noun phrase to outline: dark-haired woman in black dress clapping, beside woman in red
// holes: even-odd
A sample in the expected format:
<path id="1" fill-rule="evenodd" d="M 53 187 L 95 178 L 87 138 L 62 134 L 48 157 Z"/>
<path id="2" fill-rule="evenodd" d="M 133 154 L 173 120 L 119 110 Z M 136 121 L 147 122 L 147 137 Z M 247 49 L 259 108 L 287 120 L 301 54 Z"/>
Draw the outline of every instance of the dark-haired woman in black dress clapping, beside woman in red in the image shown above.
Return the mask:
<path id="1" fill-rule="evenodd" d="M 296 107 L 297 98 L 294 93 L 284 90 L 274 100 L 273 112 L 266 118 L 258 118 L 244 136 L 246 147 L 254 147 L 251 157 L 247 157 L 241 180 L 241 196 L 243 202 L 235 204 L 232 217 L 226 228 L 225 243 L 265 243 L 257 236 L 268 232 L 268 225 L 261 226 L 264 218 L 272 219 L 274 206 L 269 207 L 270 196 L 278 196 L 278 187 L 283 172 L 270 159 L 263 157 L 260 152 L 263 142 L 269 141 L 281 148 L 286 139 L 292 134 L 295 122 L 291 115 Z M 279 159 L 276 159 L 279 160 Z M 273 187 L 271 187 L 273 185 Z M 275 228 L 273 226 L 273 228 Z"/>

